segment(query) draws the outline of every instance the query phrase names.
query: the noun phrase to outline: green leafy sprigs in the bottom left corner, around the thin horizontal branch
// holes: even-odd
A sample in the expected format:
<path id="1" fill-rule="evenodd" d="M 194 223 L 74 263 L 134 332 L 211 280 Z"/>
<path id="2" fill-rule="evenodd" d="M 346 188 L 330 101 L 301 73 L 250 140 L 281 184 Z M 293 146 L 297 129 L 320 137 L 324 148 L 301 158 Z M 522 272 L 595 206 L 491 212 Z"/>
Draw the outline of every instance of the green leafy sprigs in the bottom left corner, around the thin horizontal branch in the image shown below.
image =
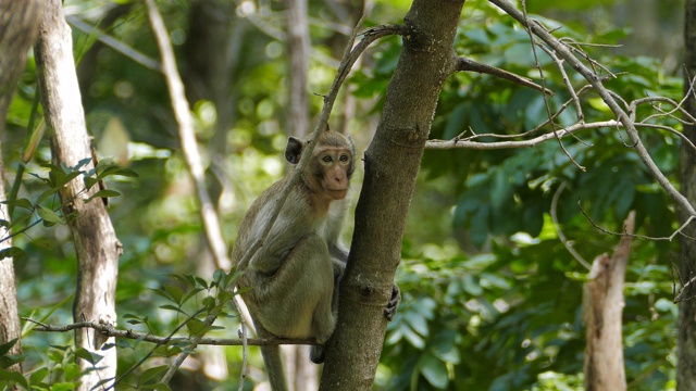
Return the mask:
<path id="1" fill-rule="evenodd" d="M 225 329 L 222 326 L 206 327 L 203 319 L 212 312 L 220 313 L 222 317 L 226 316 L 224 308 L 231 305 L 229 302 L 235 294 L 232 287 L 238 277 L 239 273 L 222 270 L 214 273 L 212 281 L 192 275 L 170 275 L 167 285 L 151 289 L 157 297 L 164 300 L 165 304 L 159 305 L 159 308 L 173 312 L 174 316 L 171 317 L 169 325 L 163 325 L 161 320 L 150 319 L 147 315 L 128 313 L 123 315 L 125 323 L 136 328 L 135 330 L 129 328 L 132 333 L 142 327 L 146 328 L 146 332 L 137 339 L 119 339 L 115 344 L 103 345 L 102 350 L 120 349 L 122 353 L 119 354 L 119 358 L 128 368 L 115 379 L 115 384 L 119 388 L 127 384 L 127 388 L 138 390 L 167 390 L 169 387 L 159 381 L 162 373 L 169 368 L 169 365 L 162 364 L 162 358 L 173 357 L 185 350 L 190 350 L 191 336 L 202 336 L 213 330 Z M 144 343 L 147 336 L 158 335 L 169 327 L 172 330 L 169 331 L 165 342 Z M 182 335 L 179 331 L 184 329 L 187 332 Z M 76 358 L 87 361 L 92 367 L 98 366 L 103 358 L 102 355 L 84 348 L 49 345 L 48 351 L 40 354 L 41 362 L 48 365 L 37 368 L 29 376 L 22 376 L 17 371 L 5 369 L 13 364 L 28 361 L 27 355 L 9 354 L 10 348 L 15 342 L 16 340 L 13 340 L 0 345 L 0 387 L 3 389 L 21 387 L 25 390 L 73 390 L 79 384 L 82 375 Z M 110 380 L 103 379 L 104 382 Z"/>

